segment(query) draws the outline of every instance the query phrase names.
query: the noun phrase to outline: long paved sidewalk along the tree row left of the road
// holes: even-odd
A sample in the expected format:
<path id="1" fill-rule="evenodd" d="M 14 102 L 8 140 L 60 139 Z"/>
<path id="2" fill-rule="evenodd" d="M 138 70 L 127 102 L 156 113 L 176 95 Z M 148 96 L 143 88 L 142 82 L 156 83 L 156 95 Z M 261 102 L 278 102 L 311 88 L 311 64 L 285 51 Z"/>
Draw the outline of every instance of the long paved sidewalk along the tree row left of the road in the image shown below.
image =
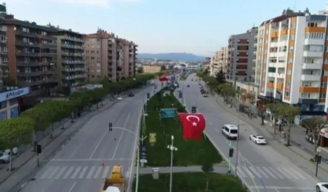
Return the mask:
<path id="1" fill-rule="evenodd" d="M 142 89 L 143 88 L 135 91 L 138 92 Z M 127 95 L 122 95 L 121 97 L 126 98 Z M 92 105 L 90 111 L 83 112 L 81 117 L 74 119 L 73 123 L 71 123 L 70 119 L 67 119 L 64 123 L 64 130 L 55 129 L 52 132 L 53 138 L 45 137 L 39 140 L 38 144 L 42 145 L 43 148 L 43 152 L 39 155 L 40 167 L 45 165 L 47 161 L 60 151 L 61 147 L 73 138 L 90 118 L 105 111 L 117 102 L 119 102 L 119 100 L 107 98 L 103 101 L 103 105 L 101 105 L 101 103 L 98 104 L 98 108 L 96 108 L 96 105 Z M 61 127 L 61 123 L 58 127 Z M 9 164 L 4 164 L 3 169 L 0 169 L 1 192 L 18 191 L 20 187 L 23 187 L 38 172 L 39 168 L 36 167 L 36 153 L 32 151 L 33 146 L 27 148 L 24 153 L 21 153 L 12 161 L 14 170 L 7 171 Z"/>

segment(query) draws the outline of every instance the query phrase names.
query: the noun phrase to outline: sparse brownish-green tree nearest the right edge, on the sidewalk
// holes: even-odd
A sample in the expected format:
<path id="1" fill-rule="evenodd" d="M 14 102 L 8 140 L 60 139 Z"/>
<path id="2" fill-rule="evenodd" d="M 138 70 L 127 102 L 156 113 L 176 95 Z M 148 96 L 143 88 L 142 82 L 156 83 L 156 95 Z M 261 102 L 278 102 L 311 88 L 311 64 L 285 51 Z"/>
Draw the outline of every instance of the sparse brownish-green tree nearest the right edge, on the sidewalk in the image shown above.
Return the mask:
<path id="1" fill-rule="evenodd" d="M 314 141 L 314 154 L 317 154 L 317 148 L 319 145 L 319 134 L 321 129 L 323 129 L 324 127 L 326 127 L 328 124 L 328 122 L 320 117 L 312 117 L 309 119 L 304 119 L 302 120 L 302 125 L 306 128 L 309 129 L 311 134 L 312 134 L 312 138 Z"/>

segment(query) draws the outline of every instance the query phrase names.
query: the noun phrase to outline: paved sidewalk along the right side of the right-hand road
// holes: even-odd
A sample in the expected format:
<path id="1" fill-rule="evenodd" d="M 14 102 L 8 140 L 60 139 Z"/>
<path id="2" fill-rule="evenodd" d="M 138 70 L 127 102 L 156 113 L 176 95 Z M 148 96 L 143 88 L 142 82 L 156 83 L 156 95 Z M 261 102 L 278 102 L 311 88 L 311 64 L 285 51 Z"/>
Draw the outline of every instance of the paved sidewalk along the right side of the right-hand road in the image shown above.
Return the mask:
<path id="1" fill-rule="evenodd" d="M 226 109 L 227 112 L 231 113 L 232 115 L 238 117 L 238 112 L 236 108 L 230 108 L 230 104 L 226 105 L 223 102 L 223 98 L 211 96 L 209 99 L 212 99 L 213 102 L 216 102 L 221 108 Z M 292 163 L 297 165 L 299 168 L 303 169 L 306 173 L 315 176 L 316 171 L 316 164 L 311 162 L 310 159 L 313 158 L 313 155 L 305 152 L 300 146 L 294 145 L 292 146 L 285 146 L 285 139 L 282 139 L 279 134 L 273 134 L 273 127 L 269 125 L 260 125 L 261 119 L 259 117 L 250 119 L 247 114 L 239 113 L 240 120 L 244 123 L 247 123 L 255 128 L 255 130 L 267 138 L 270 142 L 270 145 L 278 151 L 280 154 L 288 158 Z M 302 129 L 304 129 L 302 127 Z M 295 127 L 292 127 L 291 135 L 295 132 Z M 305 134 L 304 134 L 305 140 Z M 300 158 L 301 157 L 301 158 Z M 317 179 L 321 181 L 325 181 L 328 178 L 328 164 L 322 161 L 319 164 L 320 170 L 318 170 L 318 177 Z M 319 181 L 318 180 L 318 181 Z"/>

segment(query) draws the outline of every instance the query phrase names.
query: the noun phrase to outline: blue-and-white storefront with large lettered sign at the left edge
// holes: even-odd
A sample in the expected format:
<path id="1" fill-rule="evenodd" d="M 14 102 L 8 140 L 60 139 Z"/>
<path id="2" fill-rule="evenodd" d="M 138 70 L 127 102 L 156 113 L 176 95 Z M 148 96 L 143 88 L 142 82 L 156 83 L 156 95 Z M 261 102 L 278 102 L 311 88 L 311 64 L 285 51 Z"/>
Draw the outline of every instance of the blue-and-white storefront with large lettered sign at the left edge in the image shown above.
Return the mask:
<path id="1" fill-rule="evenodd" d="M 13 89 L 0 93 L 0 121 L 18 117 L 20 113 L 19 97 L 30 93 L 30 88 Z"/>

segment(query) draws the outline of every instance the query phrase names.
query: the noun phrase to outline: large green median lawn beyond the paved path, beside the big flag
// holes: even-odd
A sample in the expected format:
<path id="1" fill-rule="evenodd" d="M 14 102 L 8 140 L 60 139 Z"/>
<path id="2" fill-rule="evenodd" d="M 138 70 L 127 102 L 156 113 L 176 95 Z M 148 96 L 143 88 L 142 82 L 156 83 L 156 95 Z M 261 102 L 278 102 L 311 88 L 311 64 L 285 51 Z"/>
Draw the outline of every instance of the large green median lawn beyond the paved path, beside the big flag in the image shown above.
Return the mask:
<path id="1" fill-rule="evenodd" d="M 222 157 L 210 140 L 205 139 L 204 136 L 200 141 L 183 139 L 181 123 L 177 115 L 175 118 L 162 118 L 160 121 L 159 109 L 156 111 L 155 106 L 162 104 L 163 108 L 176 108 L 180 112 L 186 112 L 173 93 L 163 96 L 163 91 L 165 90 L 151 97 L 147 104 L 146 135 L 156 133 L 154 146 L 150 146 L 149 139 L 145 140 L 148 149 L 147 165 L 170 166 L 171 151 L 167 146 L 171 144 L 171 135 L 174 136 L 174 146 L 178 148 L 178 151 L 174 152 L 174 166 L 201 165 L 205 160 L 220 163 Z"/>

